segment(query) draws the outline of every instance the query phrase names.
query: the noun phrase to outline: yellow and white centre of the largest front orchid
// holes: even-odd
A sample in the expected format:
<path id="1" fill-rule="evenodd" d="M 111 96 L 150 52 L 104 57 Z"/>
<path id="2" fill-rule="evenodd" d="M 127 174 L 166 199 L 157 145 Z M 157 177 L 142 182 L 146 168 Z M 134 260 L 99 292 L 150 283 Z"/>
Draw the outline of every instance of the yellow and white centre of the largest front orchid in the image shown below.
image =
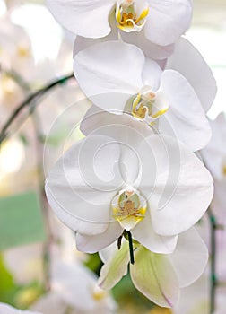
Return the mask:
<path id="1" fill-rule="evenodd" d="M 143 196 L 134 189 L 126 189 L 113 198 L 113 217 L 123 229 L 130 231 L 145 217 L 147 204 Z"/>

